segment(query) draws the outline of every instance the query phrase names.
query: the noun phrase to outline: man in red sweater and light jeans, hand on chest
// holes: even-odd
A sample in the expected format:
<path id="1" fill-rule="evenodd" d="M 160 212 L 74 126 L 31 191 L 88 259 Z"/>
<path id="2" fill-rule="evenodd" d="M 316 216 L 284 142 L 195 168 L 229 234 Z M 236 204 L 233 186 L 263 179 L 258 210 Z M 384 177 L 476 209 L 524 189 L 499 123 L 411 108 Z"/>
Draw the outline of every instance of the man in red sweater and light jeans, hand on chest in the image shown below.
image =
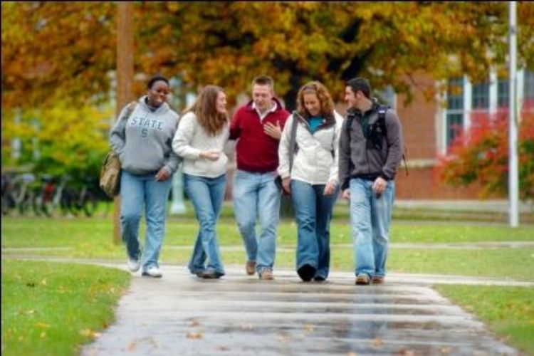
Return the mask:
<path id="1" fill-rule="evenodd" d="M 290 115 L 274 97 L 271 77 L 252 81 L 252 100 L 236 111 L 230 140 L 237 140 L 234 175 L 234 214 L 248 261 L 246 273 L 273 279 L 276 228 L 280 218 L 281 191 L 274 179 L 278 168 L 278 142 Z M 256 239 L 256 217 L 261 231 Z"/>

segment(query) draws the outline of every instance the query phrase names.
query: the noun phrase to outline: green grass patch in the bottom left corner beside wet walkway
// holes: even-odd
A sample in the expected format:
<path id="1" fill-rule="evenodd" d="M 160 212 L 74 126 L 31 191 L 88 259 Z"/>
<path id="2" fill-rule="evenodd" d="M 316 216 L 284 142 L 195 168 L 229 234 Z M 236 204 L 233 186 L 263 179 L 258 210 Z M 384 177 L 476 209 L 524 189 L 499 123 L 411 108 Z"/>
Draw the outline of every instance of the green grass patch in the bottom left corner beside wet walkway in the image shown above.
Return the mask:
<path id="1" fill-rule="evenodd" d="M 130 281 L 114 268 L 4 259 L 1 276 L 2 355 L 78 355 Z"/>

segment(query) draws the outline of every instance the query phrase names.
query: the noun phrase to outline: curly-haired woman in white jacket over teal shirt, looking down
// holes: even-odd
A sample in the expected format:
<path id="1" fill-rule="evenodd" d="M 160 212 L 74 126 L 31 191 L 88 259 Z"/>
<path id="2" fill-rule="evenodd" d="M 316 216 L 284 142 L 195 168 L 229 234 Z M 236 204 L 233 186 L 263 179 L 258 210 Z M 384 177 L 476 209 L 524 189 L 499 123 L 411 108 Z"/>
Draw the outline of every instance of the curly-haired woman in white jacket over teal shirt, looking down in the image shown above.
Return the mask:
<path id="1" fill-rule="evenodd" d="M 294 151 L 290 147 L 295 130 Z M 305 281 L 325 281 L 330 266 L 330 219 L 339 193 L 337 150 L 342 117 L 332 97 L 317 81 L 303 85 L 297 110 L 284 127 L 278 156 L 278 174 L 290 192 L 298 226 L 297 273 Z M 293 155 L 293 167 L 290 167 Z"/>

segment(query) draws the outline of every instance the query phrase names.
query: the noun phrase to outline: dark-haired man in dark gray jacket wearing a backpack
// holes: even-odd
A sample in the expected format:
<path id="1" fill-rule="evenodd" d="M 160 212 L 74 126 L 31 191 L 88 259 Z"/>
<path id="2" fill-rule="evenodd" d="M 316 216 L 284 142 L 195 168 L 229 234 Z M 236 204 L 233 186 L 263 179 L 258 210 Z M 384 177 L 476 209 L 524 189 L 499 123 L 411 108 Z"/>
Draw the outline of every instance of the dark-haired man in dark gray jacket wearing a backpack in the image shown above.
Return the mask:
<path id="1" fill-rule="evenodd" d="M 383 283 L 395 173 L 402 159 L 397 114 L 371 97 L 365 78 L 348 80 L 347 120 L 340 135 L 342 197 L 350 199 L 356 284 Z"/>

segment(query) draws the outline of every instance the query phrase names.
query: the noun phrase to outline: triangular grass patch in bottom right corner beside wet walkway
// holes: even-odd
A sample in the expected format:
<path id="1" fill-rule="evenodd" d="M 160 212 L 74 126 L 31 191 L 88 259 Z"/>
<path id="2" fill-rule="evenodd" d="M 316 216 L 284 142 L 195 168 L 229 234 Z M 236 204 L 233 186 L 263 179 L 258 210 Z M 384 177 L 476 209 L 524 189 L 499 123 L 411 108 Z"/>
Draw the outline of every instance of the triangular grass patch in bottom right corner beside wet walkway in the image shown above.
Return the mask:
<path id="1" fill-rule="evenodd" d="M 474 313 L 505 342 L 534 355 L 534 288 L 434 286 Z"/>

